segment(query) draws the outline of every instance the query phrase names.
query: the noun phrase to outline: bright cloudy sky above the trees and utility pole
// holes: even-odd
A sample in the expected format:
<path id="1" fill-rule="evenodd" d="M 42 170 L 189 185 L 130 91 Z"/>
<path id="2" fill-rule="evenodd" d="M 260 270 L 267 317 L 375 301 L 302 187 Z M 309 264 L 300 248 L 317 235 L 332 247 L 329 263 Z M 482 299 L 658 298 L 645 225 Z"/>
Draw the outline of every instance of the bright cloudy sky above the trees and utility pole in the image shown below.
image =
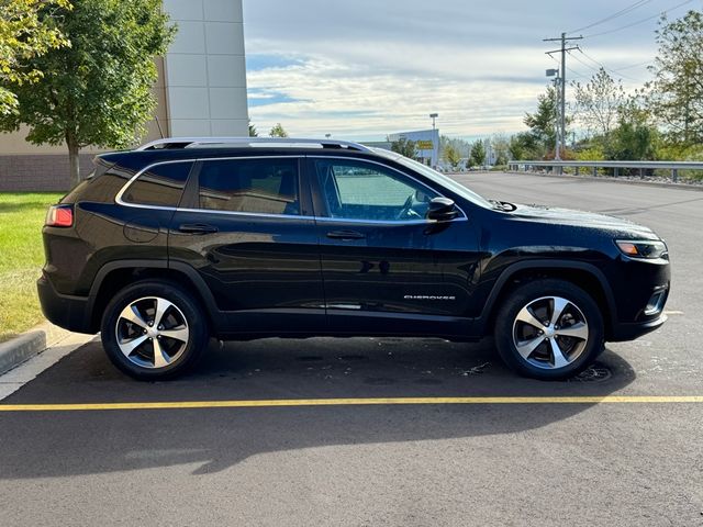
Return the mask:
<path id="1" fill-rule="evenodd" d="M 259 133 L 383 141 L 432 126 L 476 138 L 525 130 L 558 67 L 543 38 L 583 35 L 567 82 L 602 65 L 650 79 L 658 14 L 703 0 L 243 0 L 249 116 Z M 613 16 L 614 15 L 614 16 Z M 555 59 L 558 54 L 554 55 Z M 568 97 L 568 96 L 567 96 Z"/>

